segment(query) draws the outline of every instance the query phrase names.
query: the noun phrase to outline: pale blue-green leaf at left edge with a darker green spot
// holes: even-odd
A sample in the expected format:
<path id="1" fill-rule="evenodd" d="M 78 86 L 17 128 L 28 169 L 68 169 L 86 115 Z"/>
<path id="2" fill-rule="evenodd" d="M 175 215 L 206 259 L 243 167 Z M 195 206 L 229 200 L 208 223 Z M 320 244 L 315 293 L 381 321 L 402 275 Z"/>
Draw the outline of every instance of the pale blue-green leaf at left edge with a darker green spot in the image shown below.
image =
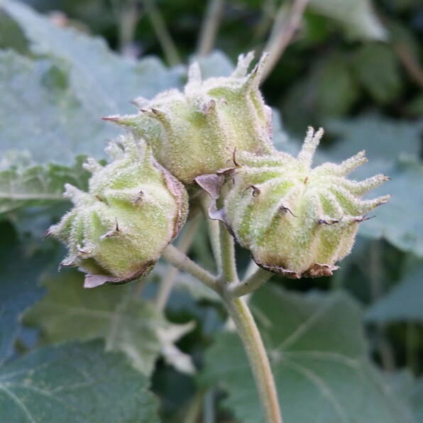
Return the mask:
<path id="1" fill-rule="evenodd" d="M 117 134 L 48 60 L 0 51 L 0 92 L 0 153 L 29 150 L 35 163 L 72 165 L 79 154 L 104 157 L 104 141 Z"/>

